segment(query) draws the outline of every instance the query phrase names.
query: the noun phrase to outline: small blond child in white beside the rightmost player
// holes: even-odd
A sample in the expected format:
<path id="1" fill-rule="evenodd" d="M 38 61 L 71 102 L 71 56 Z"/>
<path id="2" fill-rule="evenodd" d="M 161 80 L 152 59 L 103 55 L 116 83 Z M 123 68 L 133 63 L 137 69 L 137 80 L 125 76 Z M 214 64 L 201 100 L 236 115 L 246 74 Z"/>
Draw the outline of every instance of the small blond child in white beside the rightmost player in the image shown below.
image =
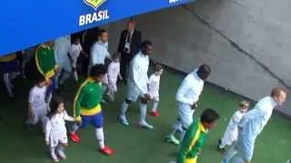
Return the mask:
<path id="1" fill-rule="evenodd" d="M 228 126 L 226 128 L 225 134 L 222 139 L 219 139 L 218 150 L 222 153 L 226 152 L 226 145 L 232 145 L 234 141 L 237 140 L 238 137 L 238 129 L 237 125 L 239 121 L 243 118 L 246 111 L 248 110 L 249 102 L 241 101 L 239 104 L 239 109 L 236 110 L 236 113 L 229 120 Z"/>

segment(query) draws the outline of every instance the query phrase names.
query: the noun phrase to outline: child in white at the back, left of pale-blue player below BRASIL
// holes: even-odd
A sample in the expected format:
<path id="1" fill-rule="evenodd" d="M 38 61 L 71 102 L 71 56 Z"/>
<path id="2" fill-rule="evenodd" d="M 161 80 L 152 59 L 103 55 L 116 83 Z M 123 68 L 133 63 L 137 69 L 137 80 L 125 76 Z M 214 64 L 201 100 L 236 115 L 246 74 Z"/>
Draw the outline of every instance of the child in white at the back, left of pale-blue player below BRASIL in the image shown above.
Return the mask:
<path id="1" fill-rule="evenodd" d="M 77 82 L 78 81 L 78 74 L 77 74 L 78 57 L 79 57 L 80 53 L 83 53 L 85 56 L 87 56 L 87 54 L 85 54 L 85 52 L 83 51 L 79 37 L 73 38 L 73 43 L 71 45 L 69 53 L 70 53 L 70 57 L 71 57 L 74 79 L 75 79 L 75 82 Z"/>

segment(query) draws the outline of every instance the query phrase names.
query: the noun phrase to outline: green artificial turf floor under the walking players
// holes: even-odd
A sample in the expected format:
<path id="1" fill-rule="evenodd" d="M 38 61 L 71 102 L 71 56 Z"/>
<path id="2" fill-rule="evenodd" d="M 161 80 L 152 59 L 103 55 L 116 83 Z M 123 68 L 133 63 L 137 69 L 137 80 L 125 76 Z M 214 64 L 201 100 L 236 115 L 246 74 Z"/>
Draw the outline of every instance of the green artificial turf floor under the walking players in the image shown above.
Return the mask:
<path id="1" fill-rule="evenodd" d="M 97 152 L 94 129 L 81 129 L 80 144 L 69 143 L 66 149 L 68 163 L 167 163 L 176 158 L 177 147 L 167 144 L 164 138 L 176 120 L 175 93 L 182 75 L 166 71 L 161 79 L 160 105 L 161 116 L 147 117 L 155 129 L 146 130 L 136 126 L 138 120 L 138 104 L 130 107 L 128 127 L 122 126 L 117 120 L 117 114 L 125 95 L 125 84 L 119 85 L 116 101 L 103 107 L 105 117 L 105 142 L 115 155 L 104 156 Z M 71 80 L 70 80 L 71 81 Z M 61 96 L 65 99 L 65 108 L 72 112 L 75 86 L 66 82 Z M 45 153 L 45 139 L 40 127 L 25 129 L 24 121 L 27 109 L 27 94 L 33 85 L 32 80 L 15 80 L 15 100 L 5 98 L 5 91 L 0 95 L 0 162 L 1 163 L 46 163 L 51 162 Z M 205 91 L 199 101 L 196 117 L 206 108 L 216 109 L 221 119 L 216 129 L 210 131 L 209 139 L 199 157 L 199 163 L 218 163 L 222 155 L 216 151 L 217 139 L 221 137 L 229 118 L 237 108 L 238 101 L 243 100 L 230 92 L 226 92 L 206 84 Z M 68 126 L 71 126 L 68 123 Z M 268 125 L 256 141 L 254 163 L 284 163 L 291 158 L 291 123 L 279 116 L 273 115 Z"/>

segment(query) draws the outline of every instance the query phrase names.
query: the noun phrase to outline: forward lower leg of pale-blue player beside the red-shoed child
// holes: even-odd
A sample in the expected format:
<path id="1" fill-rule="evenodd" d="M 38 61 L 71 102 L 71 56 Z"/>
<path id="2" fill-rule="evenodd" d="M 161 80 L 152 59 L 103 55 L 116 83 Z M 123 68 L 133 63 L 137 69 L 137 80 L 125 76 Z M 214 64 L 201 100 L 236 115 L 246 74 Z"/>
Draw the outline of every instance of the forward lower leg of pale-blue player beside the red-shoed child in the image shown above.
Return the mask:
<path id="1" fill-rule="evenodd" d="M 140 98 L 139 103 L 139 125 L 145 129 L 154 129 L 154 127 L 146 122 L 147 100 L 144 97 Z"/>

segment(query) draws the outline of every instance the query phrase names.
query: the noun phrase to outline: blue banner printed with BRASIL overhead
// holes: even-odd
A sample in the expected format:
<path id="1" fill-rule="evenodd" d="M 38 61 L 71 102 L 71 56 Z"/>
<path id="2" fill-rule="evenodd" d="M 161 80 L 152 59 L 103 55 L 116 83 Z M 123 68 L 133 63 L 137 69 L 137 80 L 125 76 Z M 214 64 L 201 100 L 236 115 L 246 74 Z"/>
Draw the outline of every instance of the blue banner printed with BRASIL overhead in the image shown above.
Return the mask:
<path id="1" fill-rule="evenodd" d="M 189 1 L 1 0 L 0 56 L 65 34 Z"/>

